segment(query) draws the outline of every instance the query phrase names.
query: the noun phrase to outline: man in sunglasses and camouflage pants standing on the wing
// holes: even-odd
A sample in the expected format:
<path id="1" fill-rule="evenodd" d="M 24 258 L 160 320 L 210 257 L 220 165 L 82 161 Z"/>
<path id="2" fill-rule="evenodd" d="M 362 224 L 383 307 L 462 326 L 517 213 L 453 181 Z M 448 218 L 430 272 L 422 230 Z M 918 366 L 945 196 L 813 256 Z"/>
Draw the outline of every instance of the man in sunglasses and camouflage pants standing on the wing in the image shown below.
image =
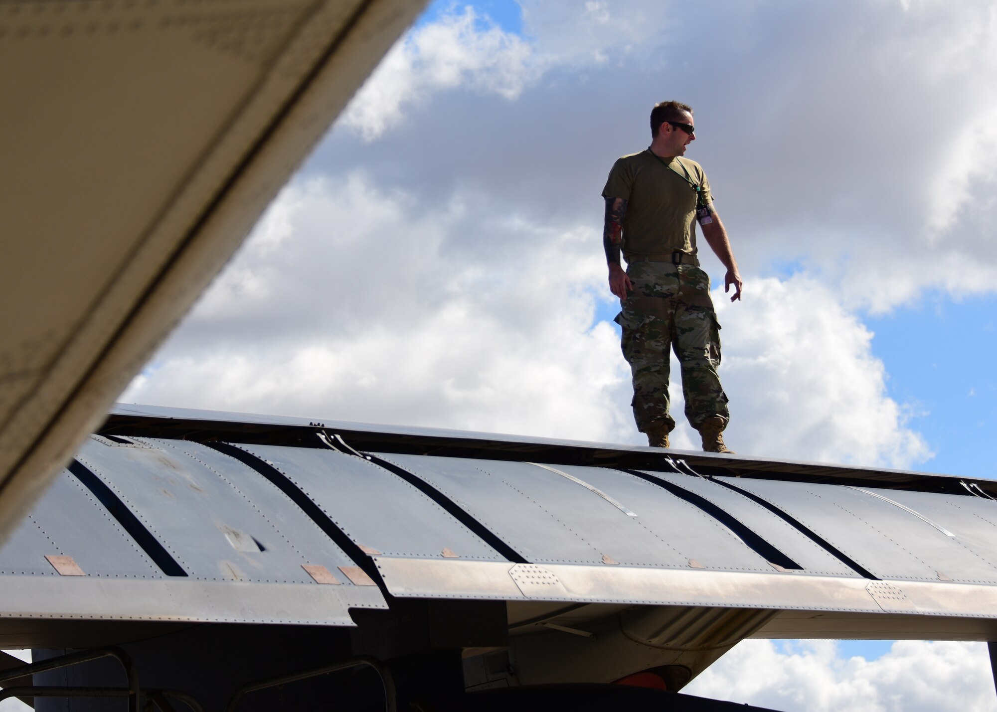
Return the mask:
<path id="1" fill-rule="evenodd" d="M 695 161 L 682 158 L 696 140 L 692 109 L 662 102 L 651 110 L 651 146 L 619 159 L 602 189 L 602 244 L 609 289 L 620 298 L 623 357 L 633 372 L 633 416 L 652 446 L 668 447 L 675 421 L 668 414 L 669 348 L 682 366 L 685 414 L 703 450 L 731 453 L 721 435 L 730 413 L 720 385 L 720 324 L 710 278 L 699 267 L 696 222 L 727 267 L 724 291 L 741 298 L 741 274 L 710 182 Z M 620 251 L 627 269 L 620 266 Z"/>

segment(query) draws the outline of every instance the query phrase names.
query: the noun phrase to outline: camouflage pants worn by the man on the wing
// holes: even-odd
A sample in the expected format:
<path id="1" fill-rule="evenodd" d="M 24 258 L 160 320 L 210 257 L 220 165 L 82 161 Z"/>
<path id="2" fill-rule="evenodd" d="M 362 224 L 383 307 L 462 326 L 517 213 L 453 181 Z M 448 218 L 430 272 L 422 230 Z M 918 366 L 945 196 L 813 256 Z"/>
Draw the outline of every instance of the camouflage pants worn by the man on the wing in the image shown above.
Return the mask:
<path id="1" fill-rule="evenodd" d="M 623 357 L 633 372 L 633 417 L 641 432 L 655 420 L 669 429 L 670 348 L 682 366 L 682 392 L 689 423 L 730 418 L 720 385 L 720 324 L 710 299 L 710 277 L 699 267 L 671 262 L 634 262 L 627 268 L 633 291 L 616 323 L 623 327 Z"/>

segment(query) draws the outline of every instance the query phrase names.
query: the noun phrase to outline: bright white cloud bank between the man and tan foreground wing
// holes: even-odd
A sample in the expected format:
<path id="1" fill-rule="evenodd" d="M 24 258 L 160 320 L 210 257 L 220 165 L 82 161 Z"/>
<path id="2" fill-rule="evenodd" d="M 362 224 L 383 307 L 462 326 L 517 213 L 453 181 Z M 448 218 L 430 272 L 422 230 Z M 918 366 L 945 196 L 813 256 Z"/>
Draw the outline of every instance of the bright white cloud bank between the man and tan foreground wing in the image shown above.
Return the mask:
<path id="1" fill-rule="evenodd" d="M 123 399 L 632 438 L 615 333 L 592 326 L 591 235 L 493 214 L 478 236 L 532 259 L 495 243 L 472 257 L 449 243 L 461 203 L 431 219 L 361 176 L 287 188 Z"/>

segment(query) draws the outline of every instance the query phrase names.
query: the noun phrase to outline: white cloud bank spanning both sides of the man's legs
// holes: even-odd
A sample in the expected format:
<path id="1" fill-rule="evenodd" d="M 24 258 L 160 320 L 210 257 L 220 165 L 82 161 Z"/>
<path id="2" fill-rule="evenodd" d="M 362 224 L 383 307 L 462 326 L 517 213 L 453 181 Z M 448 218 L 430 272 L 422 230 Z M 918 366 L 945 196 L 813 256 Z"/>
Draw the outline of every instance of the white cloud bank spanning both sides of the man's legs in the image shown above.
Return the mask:
<path id="1" fill-rule="evenodd" d="M 591 225 L 362 173 L 286 188 L 125 401 L 642 442 Z M 909 466 L 930 456 L 885 392 L 871 334 L 804 276 L 715 294 L 740 453 Z M 611 305 L 611 303 L 609 303 Z M 678 448 L 698 449 L 682 416 Z"/>

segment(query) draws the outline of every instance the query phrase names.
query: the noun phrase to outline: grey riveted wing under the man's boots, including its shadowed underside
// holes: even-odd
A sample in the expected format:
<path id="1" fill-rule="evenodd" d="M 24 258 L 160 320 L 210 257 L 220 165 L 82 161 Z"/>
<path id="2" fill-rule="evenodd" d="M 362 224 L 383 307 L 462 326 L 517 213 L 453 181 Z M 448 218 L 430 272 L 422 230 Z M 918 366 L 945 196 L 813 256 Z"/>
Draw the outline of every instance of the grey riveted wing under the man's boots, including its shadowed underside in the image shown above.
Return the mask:
<path id="1" fill-rule="evenodd" d="M 653 670 L 677 690 L 746 637 L 993 640 L 995 497 L 912 472 L 120 405 L 0 549 L 0 642 L 353 628 L 355 654 L 463 650 L 469 689 Z"/>

